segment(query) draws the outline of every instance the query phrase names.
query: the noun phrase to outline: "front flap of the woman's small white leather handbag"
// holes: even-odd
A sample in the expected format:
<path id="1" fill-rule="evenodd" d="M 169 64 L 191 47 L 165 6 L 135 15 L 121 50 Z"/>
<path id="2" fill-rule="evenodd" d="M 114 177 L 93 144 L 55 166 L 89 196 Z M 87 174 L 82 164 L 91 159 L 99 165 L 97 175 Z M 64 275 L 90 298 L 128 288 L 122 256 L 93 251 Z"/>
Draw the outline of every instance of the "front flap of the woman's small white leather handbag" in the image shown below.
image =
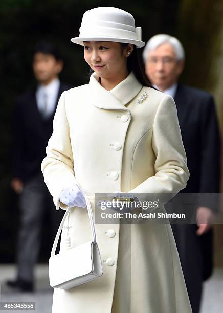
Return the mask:
<path id="1" fill-rule="evenodd" d="M 50 285 L 57 286 L 66 281 L 89 274 L 93 271 L 93 241 L 62 251 L 50 257 Z"/>

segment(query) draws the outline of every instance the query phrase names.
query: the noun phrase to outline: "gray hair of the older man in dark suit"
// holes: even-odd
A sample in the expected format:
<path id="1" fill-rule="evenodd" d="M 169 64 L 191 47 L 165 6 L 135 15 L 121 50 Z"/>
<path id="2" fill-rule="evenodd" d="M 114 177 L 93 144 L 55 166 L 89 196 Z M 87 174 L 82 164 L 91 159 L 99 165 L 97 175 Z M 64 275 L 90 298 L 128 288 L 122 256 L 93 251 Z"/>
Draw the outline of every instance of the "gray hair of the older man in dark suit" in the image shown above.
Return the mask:
<path id="1" fill-rule="evenodd" d="M 173 47 L 177 60 L 180 61 L 185 59 L 184 48 L 178 39 L 167 34 L 159 34 L 150 38 L 146 43 L 146 46 L 143 50 L 144 63 L 147 61 L 149 51 L 157 49 L 157 47 L 163 43 L 169 43 Z"/>

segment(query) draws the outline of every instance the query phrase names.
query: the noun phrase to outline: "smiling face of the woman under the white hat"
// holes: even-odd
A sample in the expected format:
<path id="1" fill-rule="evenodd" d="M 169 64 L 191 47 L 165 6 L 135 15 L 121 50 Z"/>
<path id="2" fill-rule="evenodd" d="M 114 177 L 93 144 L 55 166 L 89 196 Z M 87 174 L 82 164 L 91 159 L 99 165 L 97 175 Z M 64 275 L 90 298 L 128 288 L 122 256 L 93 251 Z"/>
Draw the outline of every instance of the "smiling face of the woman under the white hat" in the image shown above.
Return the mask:
<path id="1" fill-rule="evenodd" d="M 98 77 L 113 78 L 127 71 L 128 51 L 132 45 L 123 47 L 119 42 L 84 41 L 84 59 Z"/>

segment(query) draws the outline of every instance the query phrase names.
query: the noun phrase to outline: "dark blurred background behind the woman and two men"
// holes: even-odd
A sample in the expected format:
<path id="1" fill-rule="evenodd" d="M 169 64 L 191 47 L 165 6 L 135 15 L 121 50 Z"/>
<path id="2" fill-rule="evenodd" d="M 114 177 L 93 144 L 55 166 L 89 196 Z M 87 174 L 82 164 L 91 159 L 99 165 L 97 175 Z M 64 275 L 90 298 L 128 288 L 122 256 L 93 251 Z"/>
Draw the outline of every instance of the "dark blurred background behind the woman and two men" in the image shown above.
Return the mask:
<path id="1" fill-rule="evenodd" d="M 18 198 L 10 188 L 12 112 L 15 98 L 35 83 L 31 67 L 32 49 L 41 39 L 53 41 L 65 61 L 60 79 L 73 86 L 86 83 L 88 65 L 83 59 L 83 47 L 73 44 L 70 39 L 79 35 L 83 13 L 101 6 L 113 6 L 131 13 L 136 26 L 142 27 L 142 40 L 145 42 L 158 33 L 179 38 L 187 61 L 181 80 L 207 91 L 211 91 L 215 84 L 210 75 L 214 54 L 212 47 L 222 16 L 219 0 L 1 0 L 0 262 L 13 262 L 15 257 L 19 214 Z M 46 217 L 43 238 L 47 238 L 48 232 Z M 47 240 L 43 242 L 40 261 L 48 260 L 51 249 Z"/>

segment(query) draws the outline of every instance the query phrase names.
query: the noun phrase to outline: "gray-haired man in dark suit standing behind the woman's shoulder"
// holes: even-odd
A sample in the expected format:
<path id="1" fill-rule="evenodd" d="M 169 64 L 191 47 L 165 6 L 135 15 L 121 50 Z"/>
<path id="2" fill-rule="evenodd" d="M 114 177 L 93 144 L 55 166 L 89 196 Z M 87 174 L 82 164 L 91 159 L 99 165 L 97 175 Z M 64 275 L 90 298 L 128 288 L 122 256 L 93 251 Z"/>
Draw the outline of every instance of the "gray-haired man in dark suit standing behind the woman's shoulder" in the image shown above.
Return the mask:
<path id="1" fill-rule="evenodd" d="M 184 49 L 166 34 L 153 36 L 143 51 L 145 70 L 154 87 L 176 103 L 190 178 L 181 193 L 219 193 L 220 135 L 213 97 L 178 83 L 184 69 Z M 217 199 L 201 199 L 195 207 L 196 224 L 172 224 L 193 313 L 198 313 L 202 282 L 212 273 L 213 231 Z M 177 208 L 174 208 L 177 211 Z M 177 213 L 177 212 L 176 212 Z"/>

